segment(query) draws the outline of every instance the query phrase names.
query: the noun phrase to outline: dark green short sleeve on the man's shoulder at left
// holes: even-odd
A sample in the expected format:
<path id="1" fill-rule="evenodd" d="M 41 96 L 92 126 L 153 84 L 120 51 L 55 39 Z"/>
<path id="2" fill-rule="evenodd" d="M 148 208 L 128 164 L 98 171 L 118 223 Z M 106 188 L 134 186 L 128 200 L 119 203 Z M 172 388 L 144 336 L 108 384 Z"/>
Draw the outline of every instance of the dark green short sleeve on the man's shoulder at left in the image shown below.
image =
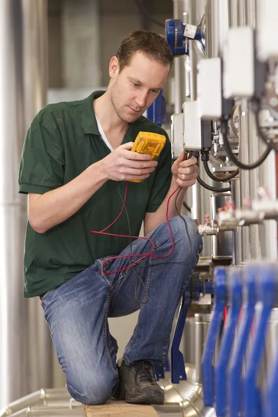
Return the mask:
<path id="1" fill-rule="evenodd" d="M 19 165 L 19 193 L 44 194 L 63 186 L 64 161 L 63 139 L 54 115 L 42 109 L 24 140 Z"/>

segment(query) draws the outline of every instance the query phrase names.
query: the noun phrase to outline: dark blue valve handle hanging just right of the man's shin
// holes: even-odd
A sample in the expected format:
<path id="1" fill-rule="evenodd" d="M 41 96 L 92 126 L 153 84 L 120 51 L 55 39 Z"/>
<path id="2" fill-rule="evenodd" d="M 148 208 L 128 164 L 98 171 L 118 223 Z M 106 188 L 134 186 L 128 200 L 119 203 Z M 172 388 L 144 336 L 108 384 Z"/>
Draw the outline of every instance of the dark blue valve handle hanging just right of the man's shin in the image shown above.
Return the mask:
<path id="1" fill-rule="evenodd" d="M 186 381 L 186 368 L 184 366 L 183 354 L 179 350 L 181 343 L 181 336 L 183 334 L 184 325 L 186 323 L 186 316 L 190 306 L 190 293 L 183 294 L 181 309 L 179 311 L 179 318 L 177 326 L 174 331 L 174 338 L 171 347 L 171 382 L 172 384 L 179 384 L 179 381 Z"/>

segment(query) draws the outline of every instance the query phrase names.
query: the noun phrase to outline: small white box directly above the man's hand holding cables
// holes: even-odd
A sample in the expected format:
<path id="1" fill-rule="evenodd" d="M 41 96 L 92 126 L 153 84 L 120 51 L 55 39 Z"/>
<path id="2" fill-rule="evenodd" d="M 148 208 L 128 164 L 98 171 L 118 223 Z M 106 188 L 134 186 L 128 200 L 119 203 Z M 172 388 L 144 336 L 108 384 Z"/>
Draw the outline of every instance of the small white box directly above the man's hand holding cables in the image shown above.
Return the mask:
<path id="1" fill-rule="evenodd" d="M 183 103 L 183 142 L 184 149 L 199 151 L 202 149 L 201 118 L 197 101 Z"/>

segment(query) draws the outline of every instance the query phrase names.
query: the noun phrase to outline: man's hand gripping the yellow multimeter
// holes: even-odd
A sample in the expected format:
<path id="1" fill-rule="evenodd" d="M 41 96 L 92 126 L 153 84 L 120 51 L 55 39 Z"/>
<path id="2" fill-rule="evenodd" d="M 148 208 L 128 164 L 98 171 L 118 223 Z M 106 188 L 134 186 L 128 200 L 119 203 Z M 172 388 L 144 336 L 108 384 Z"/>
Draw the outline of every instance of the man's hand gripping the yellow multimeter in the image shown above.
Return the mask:
<path id="1" fill-rule="evenodd" d="M 151 156 L 131 152 L 133 142 L 120 145 L 104 159 L 101 159 L 101 168 L 106 179 L 113 181 L 132 181 L 146 179 L 157 165 L 151 161 Z"/>

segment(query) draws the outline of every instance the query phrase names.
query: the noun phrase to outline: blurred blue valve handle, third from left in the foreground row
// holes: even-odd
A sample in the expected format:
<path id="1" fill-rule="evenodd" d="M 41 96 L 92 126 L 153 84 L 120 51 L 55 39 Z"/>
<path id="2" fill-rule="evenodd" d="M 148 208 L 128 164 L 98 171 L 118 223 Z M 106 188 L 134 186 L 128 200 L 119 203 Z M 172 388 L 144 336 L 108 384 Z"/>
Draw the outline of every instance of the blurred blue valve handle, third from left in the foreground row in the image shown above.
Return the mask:
<path id="1" fill-rule="evenodd" d="M 229 417 L 238 417 L 240 415 L 240 397 L 242 391 L 241 370 L 243 367 L 243 359 L 247 349 L 247 343 L 250 336 L 252 321 L 254 318 L 255 304 L 256 304 L 256 287 L 255 287 L 255 273 L 256 268 L 246 268 L 246 307 L 243 312 L 243 318 L 238 328 L 238 338 L 234 344 L 233 352 L 231 354 L 229 370 L 228 370 L 228 404 Z"/>

